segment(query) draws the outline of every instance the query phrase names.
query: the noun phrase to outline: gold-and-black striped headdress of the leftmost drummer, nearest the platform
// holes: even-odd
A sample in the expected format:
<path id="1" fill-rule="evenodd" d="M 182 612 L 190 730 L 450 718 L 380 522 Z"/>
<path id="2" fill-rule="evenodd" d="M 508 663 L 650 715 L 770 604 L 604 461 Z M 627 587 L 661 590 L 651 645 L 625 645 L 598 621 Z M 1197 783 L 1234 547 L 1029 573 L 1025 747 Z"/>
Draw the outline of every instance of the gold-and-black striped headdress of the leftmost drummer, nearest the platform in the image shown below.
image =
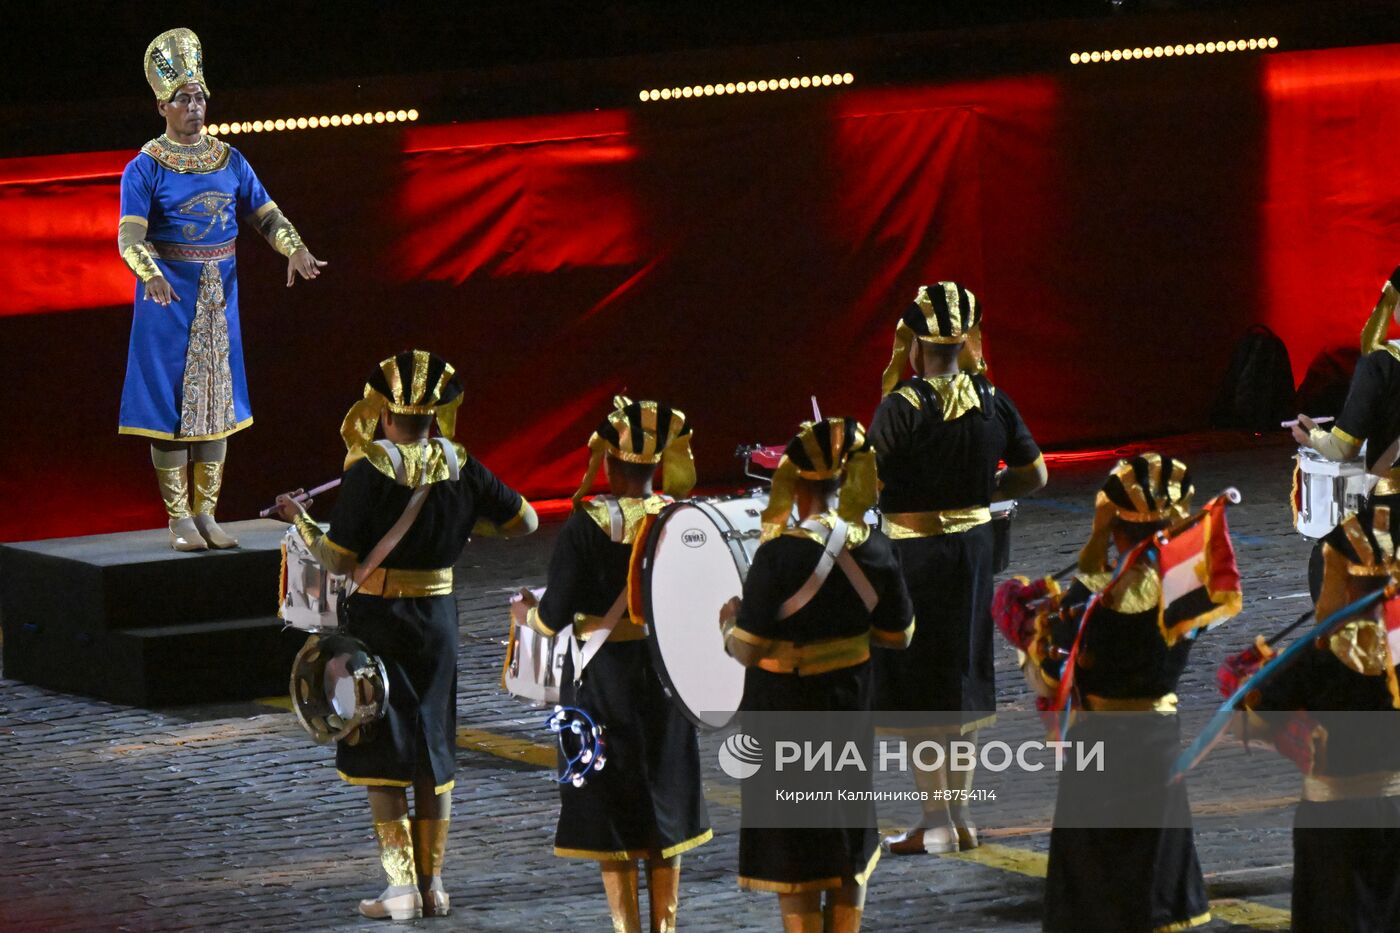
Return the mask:
<path id="1" fill-rule="evenodd" d="M 364 398 L 356 402 L 340 424 L 346 468 L 358 451 L 374 443 L 374 430 L 385 409 L 395 415 L 433 415 L 442 437 L 456 433 L 456 409 L 462 405 L 462 381 L 452 364 L 427 350 L 405 350 L 370 374 Z"/>

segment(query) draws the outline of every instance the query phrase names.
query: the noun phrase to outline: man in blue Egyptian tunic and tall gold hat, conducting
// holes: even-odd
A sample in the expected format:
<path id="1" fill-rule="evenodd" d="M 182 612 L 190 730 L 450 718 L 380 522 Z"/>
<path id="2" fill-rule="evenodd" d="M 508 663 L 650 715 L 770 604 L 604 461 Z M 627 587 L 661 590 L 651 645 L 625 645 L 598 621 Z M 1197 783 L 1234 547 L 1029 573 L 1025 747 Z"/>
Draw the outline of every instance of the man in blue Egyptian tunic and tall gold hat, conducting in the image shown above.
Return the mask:
<path id="1" fill-rule="evenodd" d="M 155 36 L 146 80 L 165 133 L 122 172 L 118 248 L 140 283 L 118 430 L 151 438 L 171 546 L 234 548 L 214 506 L 227 438 L 253 420 L 238 326 L 238 221 L 251 220 L 287 256 L 288 286 L 297 275 L 315 279 L 326 263 L 301 242 L 242 153 L 203 134 L 209 83 L 199 36 Z"/>

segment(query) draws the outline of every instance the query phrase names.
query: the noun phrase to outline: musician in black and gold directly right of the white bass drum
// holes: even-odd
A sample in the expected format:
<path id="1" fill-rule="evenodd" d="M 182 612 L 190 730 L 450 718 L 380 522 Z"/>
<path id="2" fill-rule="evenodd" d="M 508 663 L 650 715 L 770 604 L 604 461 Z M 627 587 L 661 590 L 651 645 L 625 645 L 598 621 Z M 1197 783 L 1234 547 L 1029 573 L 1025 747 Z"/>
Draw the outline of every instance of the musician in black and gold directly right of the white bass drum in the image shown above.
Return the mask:
<path id="1" fill-rule="evenodd" d="M 794 496 L 801 524 L 787 528 Z M 871 644 L 903 649 L 914 632 L 899 559 L 865 525 L 874 499 L 875 457 L 855 419 L 805 423 L 788 443 L 763 514 L 769 539 L 753 556 L 742 604 L 721 614 L 725 649 L 748 667 L 745 712 L 871 709 Z M 825 579 L 815 576 L 833 544 L 841 558 Z M 867 749 L 871 740 L 865 728 Z M 861 778 L 869 790 L 869 772 Z M 790 933 L 823 930 L 822 891 L 825 929 L 858 930 L 878 860 L 874 807 L 860 825 L 739 831 L 739 885 L 777 892 Z"/>

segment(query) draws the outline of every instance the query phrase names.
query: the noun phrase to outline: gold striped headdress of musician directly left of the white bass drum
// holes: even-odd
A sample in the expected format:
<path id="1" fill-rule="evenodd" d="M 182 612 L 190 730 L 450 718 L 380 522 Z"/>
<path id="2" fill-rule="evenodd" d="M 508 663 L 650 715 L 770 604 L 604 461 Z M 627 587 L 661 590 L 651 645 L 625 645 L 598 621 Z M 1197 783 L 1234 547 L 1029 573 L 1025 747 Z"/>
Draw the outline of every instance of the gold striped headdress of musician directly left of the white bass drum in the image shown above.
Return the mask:
<path id="1" fill-rule="evenodd" d="M 661 464 L 661 489 L 668 496 L 685 496 L 696 485 L 696 461 L 690 451 L 686 413 L 661 402 L 634 402 L 613 396 L 613 410 L 588 438 L 588 469 L 574 493 L 574 504 L 592 489 L 603 457 L 629 464 Z"/>

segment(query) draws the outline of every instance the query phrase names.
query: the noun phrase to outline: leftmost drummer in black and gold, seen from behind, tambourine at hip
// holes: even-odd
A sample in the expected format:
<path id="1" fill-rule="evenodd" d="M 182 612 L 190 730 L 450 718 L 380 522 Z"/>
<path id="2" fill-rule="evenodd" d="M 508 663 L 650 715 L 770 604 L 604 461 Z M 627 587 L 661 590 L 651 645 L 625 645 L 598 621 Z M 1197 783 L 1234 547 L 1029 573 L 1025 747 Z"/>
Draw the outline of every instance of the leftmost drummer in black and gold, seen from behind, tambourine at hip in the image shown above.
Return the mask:
<path id="1" fill-rule="evenodd" d="M 349 455 L 330 531 L 322 534 L 290 497 L 277 500 L 279 514 L 295 524 L 316 559 L 349 574 L 405 516 L 414 490 L 426 490 L 413 524 L 350 597 L 343 622 L 384 661 L 389 681 L 385 717 L 336 747 L 340 776 L 370 793 L 389 878 L 378 898 L 360 902 L 368 918 L 448 912 L 442 859 L 456 768 L 452 565 L 472 534 L 517 537 L 538 527 L 519 493 L 449 440 L 461 402 L 462 382 L 441 357 L 406 350 L 384 360 L 340 429 Z M 381 419 L 389 443 L 377 444 Z M 441 437 L 430 440 L 434 420 Z"/>

